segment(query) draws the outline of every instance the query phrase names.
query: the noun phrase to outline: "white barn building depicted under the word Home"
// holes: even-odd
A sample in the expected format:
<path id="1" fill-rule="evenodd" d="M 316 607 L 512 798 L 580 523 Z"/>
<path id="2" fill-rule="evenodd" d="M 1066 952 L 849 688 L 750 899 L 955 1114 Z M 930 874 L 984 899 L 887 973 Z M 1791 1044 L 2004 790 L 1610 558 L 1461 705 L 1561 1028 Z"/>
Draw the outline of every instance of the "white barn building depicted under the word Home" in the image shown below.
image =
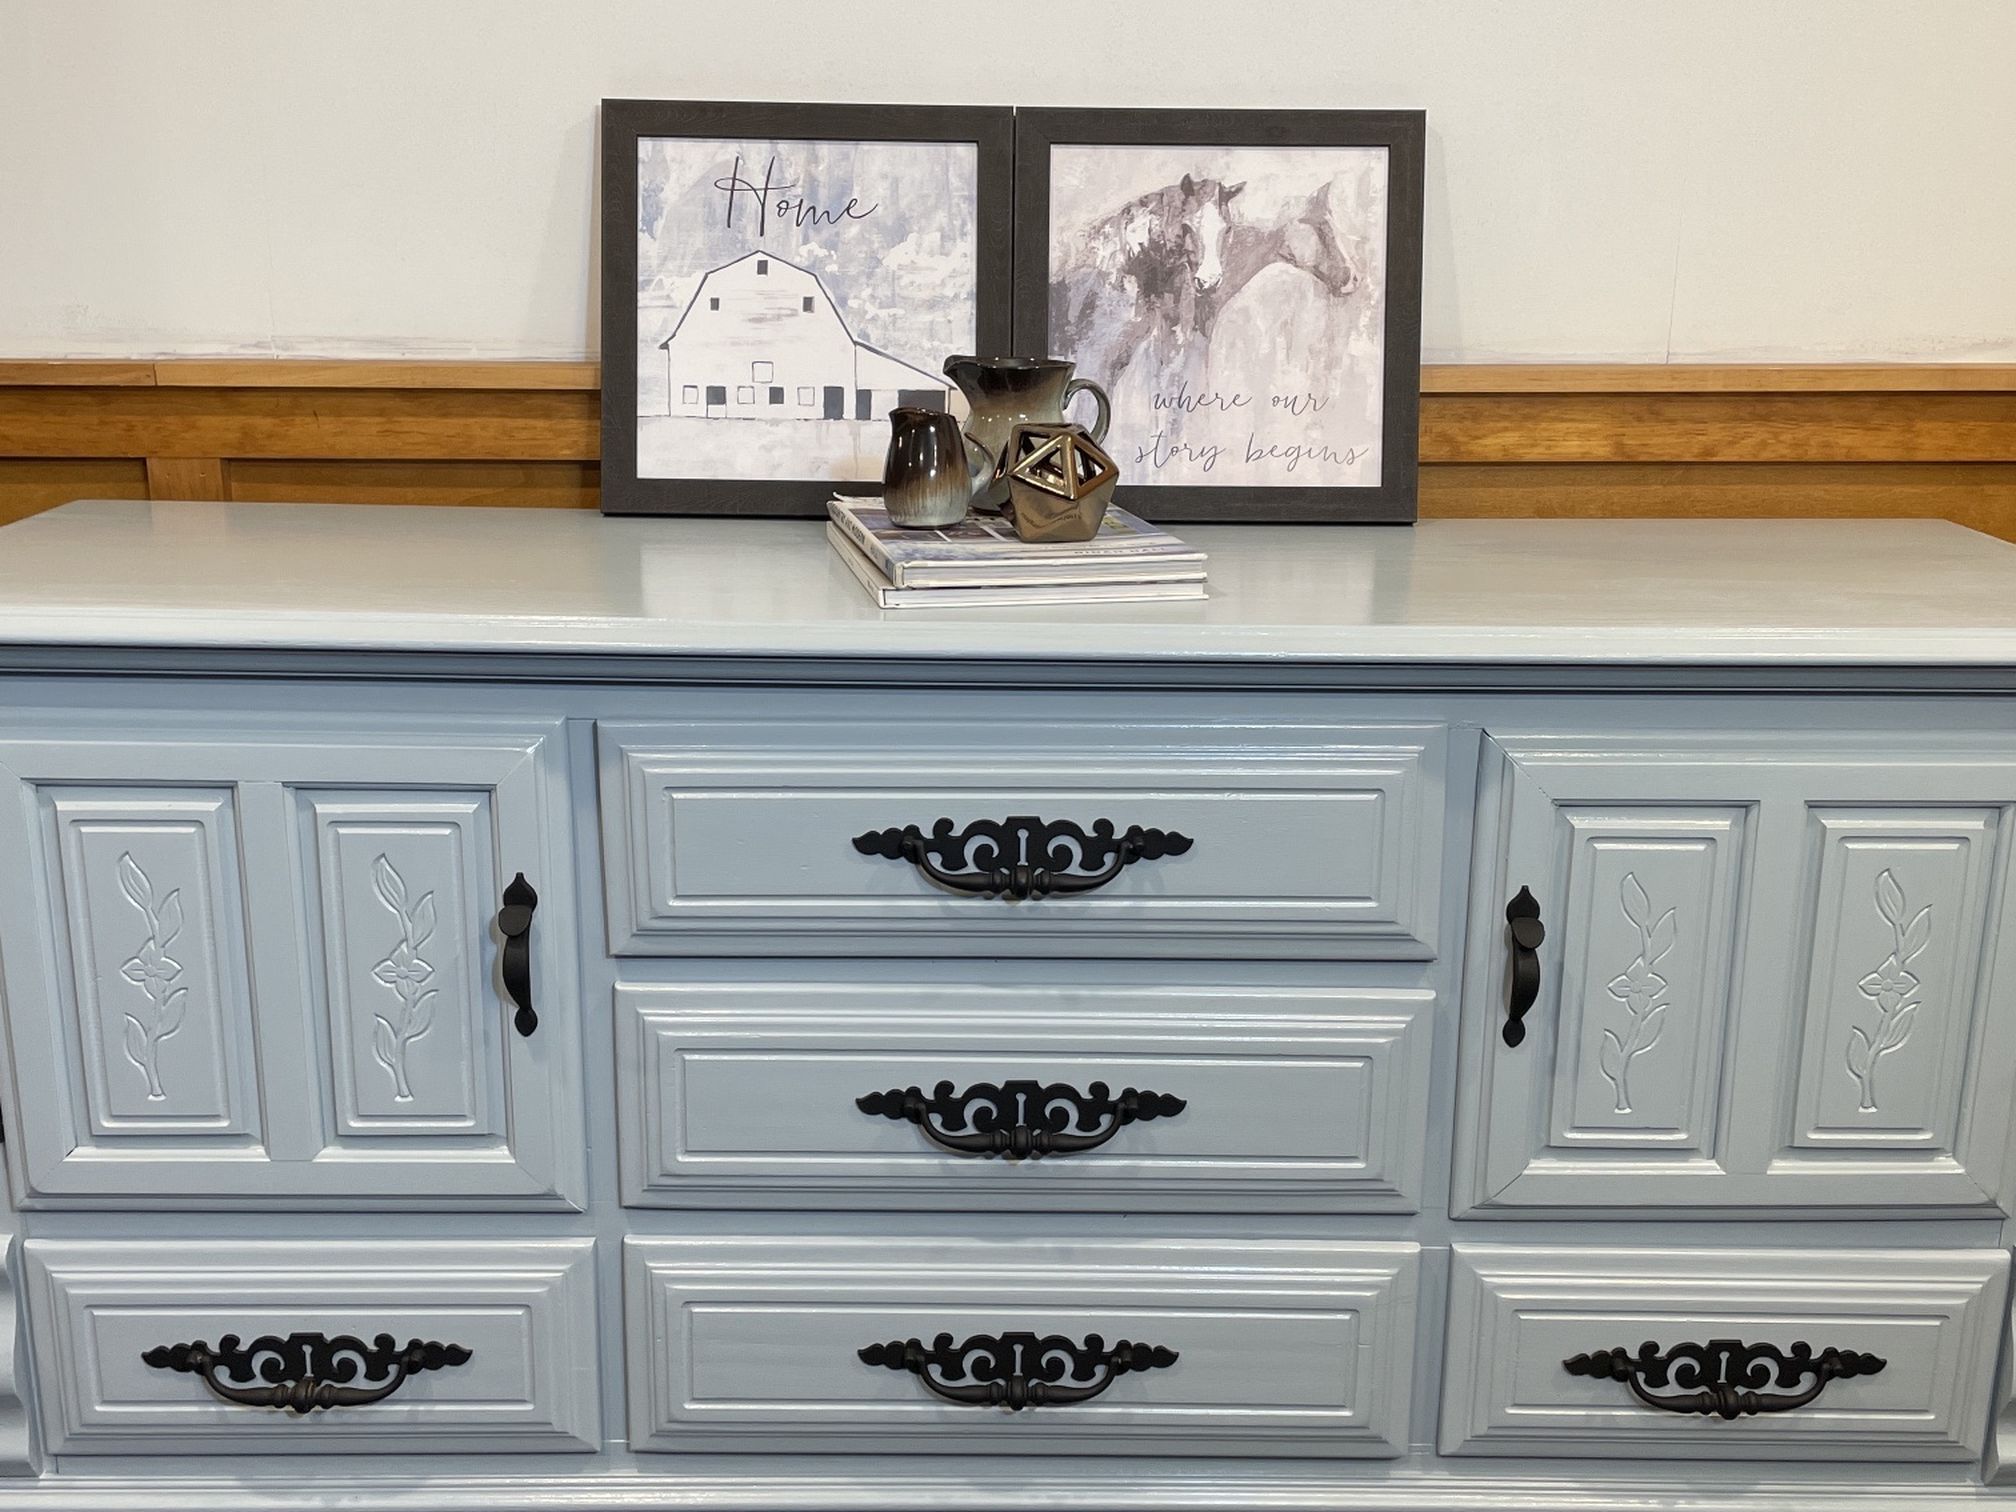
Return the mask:
<path id="1" fill-rule="evenodd" d="M 855 341 L 816 272 L 766 252 L 712 268 L 659 351 L 669 415 L 865 421 L 952 399 L 941 375 Z"/>

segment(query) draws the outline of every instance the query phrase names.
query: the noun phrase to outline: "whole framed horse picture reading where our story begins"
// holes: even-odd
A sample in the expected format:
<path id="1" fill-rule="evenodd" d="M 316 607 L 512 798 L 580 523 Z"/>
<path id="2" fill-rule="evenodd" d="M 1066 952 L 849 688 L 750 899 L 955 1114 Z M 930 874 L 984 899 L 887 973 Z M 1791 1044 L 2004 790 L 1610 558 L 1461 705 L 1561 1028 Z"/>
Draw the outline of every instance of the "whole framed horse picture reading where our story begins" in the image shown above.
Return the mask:
<path id="1" fill-rule="evenodd" d="M 1411 522 L 1421 111 L 1016 113 L 1016 349 L 1151 520 Z"/>

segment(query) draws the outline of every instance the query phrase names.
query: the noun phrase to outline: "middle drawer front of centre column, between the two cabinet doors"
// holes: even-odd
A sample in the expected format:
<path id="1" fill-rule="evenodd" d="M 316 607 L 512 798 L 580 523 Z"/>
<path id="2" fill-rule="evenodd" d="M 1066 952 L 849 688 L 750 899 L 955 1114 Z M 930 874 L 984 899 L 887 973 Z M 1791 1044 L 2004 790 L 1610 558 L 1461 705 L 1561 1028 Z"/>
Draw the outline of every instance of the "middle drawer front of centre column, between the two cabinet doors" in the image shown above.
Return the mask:
<path id="1" fill-rule="evenodd" d="M 1429 992 L 625 984 L 615 996 L 631 1206 L 1419 1206 Z M 1127 1091 L 1141 1097 L 1123 1107 Z"/>

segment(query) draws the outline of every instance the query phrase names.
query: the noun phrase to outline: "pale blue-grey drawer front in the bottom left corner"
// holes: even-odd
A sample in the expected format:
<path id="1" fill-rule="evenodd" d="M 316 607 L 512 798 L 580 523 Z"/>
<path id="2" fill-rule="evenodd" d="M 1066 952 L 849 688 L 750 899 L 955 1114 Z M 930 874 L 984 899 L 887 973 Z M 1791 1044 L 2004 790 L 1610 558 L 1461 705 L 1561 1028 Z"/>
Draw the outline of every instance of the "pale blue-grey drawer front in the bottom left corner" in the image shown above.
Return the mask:
<path id="1" fill-rule="evenodd" d="M 601 1450 L 593 1240 L 28 1240 L 22 1250 L 52 1454 Z M 208 1375 L 175 1365 L 198 1363 L 177 1345 L 222 1351 L 228 1335 L 240 1349 L 296 1335 L 371 1347 L 391 1335 L 393 1353 L 409 1341 L 444 1351 L 411 1373 L 351 1355 L 351 1389 L 391 1391 L 294 1411 L 230 1399 L 212 1379 L 226 1393 L 274 1377 L 341 1381 L 341 1359 L 337 1371 L 317 1367 L 302 1345 L 224 1359 Z"/>

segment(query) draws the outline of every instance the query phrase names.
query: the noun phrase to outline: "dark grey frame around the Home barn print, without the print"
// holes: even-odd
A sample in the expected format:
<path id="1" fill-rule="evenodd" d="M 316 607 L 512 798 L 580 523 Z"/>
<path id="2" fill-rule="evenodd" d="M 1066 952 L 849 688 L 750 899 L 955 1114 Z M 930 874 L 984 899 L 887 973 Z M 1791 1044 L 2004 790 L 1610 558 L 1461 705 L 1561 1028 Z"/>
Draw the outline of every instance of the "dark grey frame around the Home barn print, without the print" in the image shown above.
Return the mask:
<path id="1" fill-rule="evenodd" d="M 976 351 L 1010 343 L 1014 111 L 954 105 L 812 105 L 605 99 L 601 113 L 601 333 L 605 514 L 818 516 L 835 480 L 637 476 L 637 153 L 657 137 L 750 141 L 970 141 L 976 183 Z M 810 284 L 808 284 L 810 288 Z M 808 300 L 814 296 L 808 294 Z M 952 353 L 937 353 L 948 357 Z M 750 456 L 760 464 L 760 456 Z M 861 484 L 853 484 L 861 492 Z"/>

